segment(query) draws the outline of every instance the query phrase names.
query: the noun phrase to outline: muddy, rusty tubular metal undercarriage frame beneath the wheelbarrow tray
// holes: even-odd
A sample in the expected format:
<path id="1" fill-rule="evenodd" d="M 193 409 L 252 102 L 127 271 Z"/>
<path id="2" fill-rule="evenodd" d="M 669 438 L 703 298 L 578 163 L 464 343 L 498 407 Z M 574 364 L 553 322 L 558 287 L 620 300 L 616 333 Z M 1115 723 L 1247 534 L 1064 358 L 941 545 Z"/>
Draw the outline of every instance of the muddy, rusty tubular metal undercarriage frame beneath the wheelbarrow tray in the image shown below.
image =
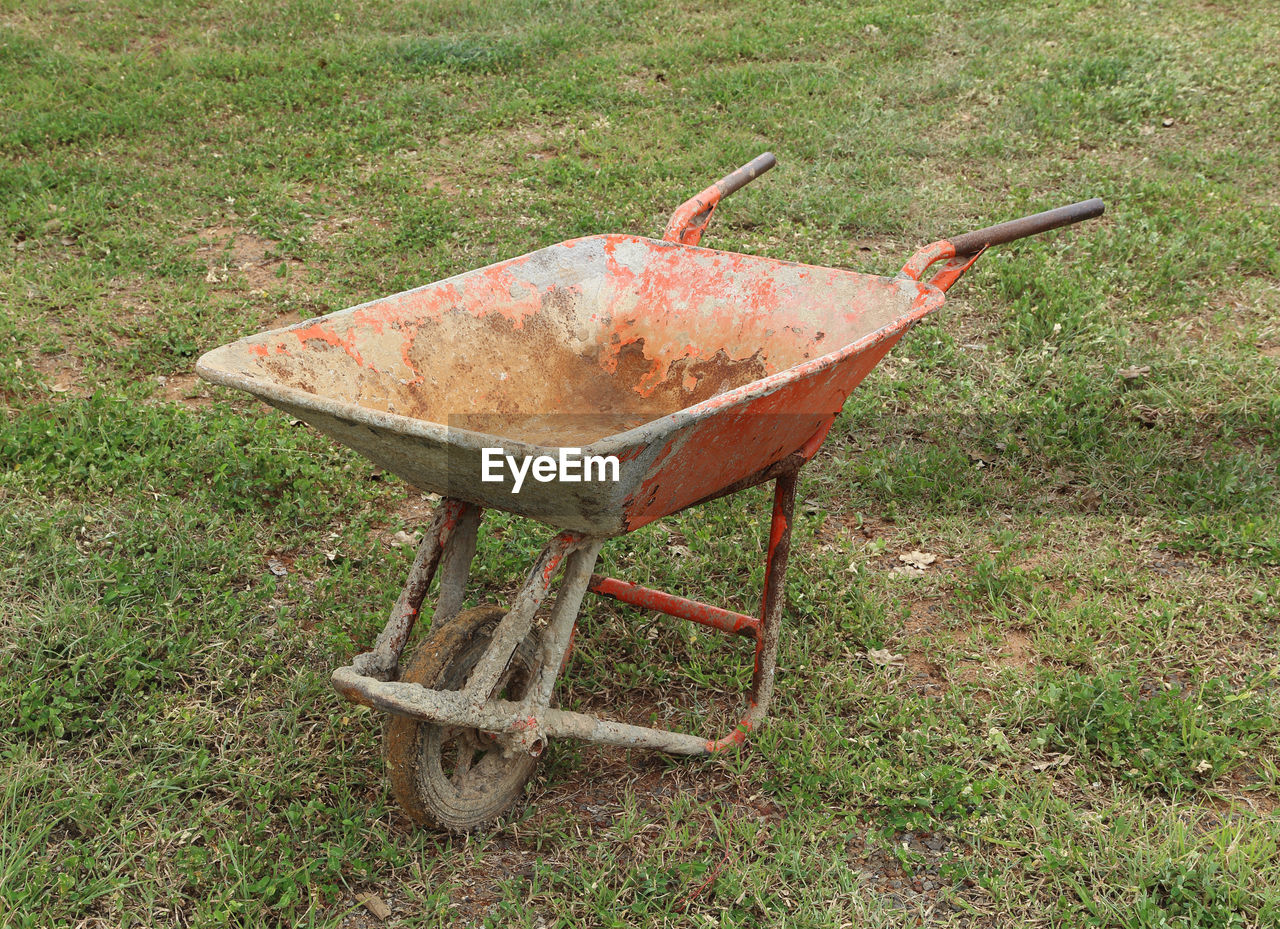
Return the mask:
<path id="1" fill-rule="evenodd" d="M 818 443 L 820 444 L 820 438 Z M 748 733 L 764 719 L 773 697 L 787 557 L 791 552 L 796 477 L 806 459 L 801 456 L 803 452 L 783 459 L 790 466 L 786 470 L 780 471 L 778 466 L 771 466 L 756 472 L 753 479 L 726 489 L 726 493 L 732 493 L 768 480 L 774 482 L 764 591 L 758 617 L 594 575 L 591 568 L 599 557 L 603 540 L 580 532 L 559 532 L 534 562 L 525 584 L 512 599 L 507 615 L 494 631 L 488 650 L 461 691 L 436 691 L 397 681 L 401 653 L 438 568 L 440 584 L 434 622 L 448 622 L 457 614 L 465 599 L 481 513 L 474 504 L 445 499 L 436 508 L 435 517 L 422 537 L 408 580 L 392 608 L 387 627 L 370 651 L 357 655 L 349 665 L 338 668 L 333 673 L 334 687 L 348 700 L 388 713 L 493 732 L 509 751 L 525 751 L 531 755 L 541 754 L 549 737 L 566 736 L 605 745 L 657 749 L 676 755 L 705 755 L 741 745 Z M 721 495 L 723 494 L 717 494 Z M 534 686 L 518 703 L 490 699 L 516 647 L 532 630 L 534 615 L 550 594 L 552 584 L 561 568 L 563 577 L 550 617 L 540 635 L 540 669 Z M 754 639 L 755 664 L 751 688 L 739 724 L 721 738 L 707 740 L 682 732 L 628 726 L 585 713 L 553 709 L 552 691 L 556 678 L 567 664 L 579 609 L 588 590 L 634 607 L 689 619 L 727 635 Z"/>

